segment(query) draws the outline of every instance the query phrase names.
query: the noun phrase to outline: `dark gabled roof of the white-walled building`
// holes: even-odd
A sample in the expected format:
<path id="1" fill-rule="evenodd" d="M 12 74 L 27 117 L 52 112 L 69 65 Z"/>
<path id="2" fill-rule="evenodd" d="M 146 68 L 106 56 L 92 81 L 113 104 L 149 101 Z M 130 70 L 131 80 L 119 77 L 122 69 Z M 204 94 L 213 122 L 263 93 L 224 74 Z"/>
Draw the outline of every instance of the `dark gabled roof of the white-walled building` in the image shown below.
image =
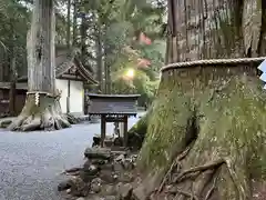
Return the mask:
<path id="1" fill-rule="evenodd" d="M 57 48 L 58 49 L 58 48 Z M 79 76 L 82 80 L 98 84 L 98 81 L 93 79 L 92 76 L 92 68 L 88 70 L 80 61 L 79 50 L 73 49 L 71 51 L 66 49 L 58 49 L 57 50 L 57 58 L 55 58 L 55 77 L 61 78 L 64 73 L 66 73 L 72 68 L 76 68 Z M 22 76 L 18 79 L 19 82 L 28 81 L 28 76 Z"/>

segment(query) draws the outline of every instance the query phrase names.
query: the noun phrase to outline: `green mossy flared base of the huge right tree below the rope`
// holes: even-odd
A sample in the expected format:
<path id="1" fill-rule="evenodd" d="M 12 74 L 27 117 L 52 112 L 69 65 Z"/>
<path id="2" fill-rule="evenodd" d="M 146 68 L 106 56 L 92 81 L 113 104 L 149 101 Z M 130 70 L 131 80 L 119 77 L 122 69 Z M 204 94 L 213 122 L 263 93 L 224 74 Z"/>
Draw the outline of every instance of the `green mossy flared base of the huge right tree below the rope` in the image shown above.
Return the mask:
<path id="1" fill-rule="evenodd" d="M 264 180 L 266 96 L 256 72 L 246 70 L 164 72 L 139 169 L 166 172 L 191 147 L 172 169 L 177 178 L 167 180 L 180 189 L 173 198 L 247 200 L 252 180 Z"/>

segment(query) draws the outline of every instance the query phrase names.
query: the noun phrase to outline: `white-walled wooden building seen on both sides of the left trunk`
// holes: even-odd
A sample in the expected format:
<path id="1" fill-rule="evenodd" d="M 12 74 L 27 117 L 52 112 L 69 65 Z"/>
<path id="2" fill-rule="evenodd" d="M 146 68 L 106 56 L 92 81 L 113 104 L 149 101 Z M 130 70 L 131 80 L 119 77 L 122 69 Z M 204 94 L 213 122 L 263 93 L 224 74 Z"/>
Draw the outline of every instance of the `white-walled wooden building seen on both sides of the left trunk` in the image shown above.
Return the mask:
<path id="1" fill-rule="evenodd" d="M 84 98 L 84 84 L 96 84 L 93 70 L 85 68 L 78 51 L 69 51 L 64 48 L 57 49 L 55 59 L 55 84 L 61 91 L 60 104 L 62 112 L 83 114 L 86 110 Z M 16 113 L 19 114 L 23 108 L 28 88 L 28 76 L 18 79 L 16 91 Z M 0 113 L 9 112 L 10 82 L 0 82 Z"/>

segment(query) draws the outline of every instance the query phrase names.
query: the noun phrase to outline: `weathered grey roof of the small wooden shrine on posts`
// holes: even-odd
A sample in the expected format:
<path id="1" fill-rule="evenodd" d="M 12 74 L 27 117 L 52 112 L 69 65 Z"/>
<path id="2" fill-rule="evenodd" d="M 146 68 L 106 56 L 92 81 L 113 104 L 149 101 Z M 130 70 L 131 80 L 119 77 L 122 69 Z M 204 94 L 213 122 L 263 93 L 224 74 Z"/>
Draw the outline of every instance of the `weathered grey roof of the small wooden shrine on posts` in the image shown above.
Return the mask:
<path id="1" fill-rule="evenodd" d="M 91 116 L 136 116 L 136 100 L 140 94 L 125 96 L 88 93 L 86 96 L 90 98 L 89 114 Z"/>

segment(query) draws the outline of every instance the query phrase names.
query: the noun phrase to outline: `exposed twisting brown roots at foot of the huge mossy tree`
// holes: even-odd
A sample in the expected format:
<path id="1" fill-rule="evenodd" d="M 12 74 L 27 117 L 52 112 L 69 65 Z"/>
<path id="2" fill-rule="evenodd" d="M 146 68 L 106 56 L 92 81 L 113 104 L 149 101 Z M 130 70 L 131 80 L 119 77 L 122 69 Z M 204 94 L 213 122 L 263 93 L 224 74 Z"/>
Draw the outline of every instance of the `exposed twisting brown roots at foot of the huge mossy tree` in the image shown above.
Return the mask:
<path id="1" fill-rule="evenodd" d="M 225 159 L 218 159 L 215 161 L 212 161 L 209 163 L 193 167 L 191 169 L 184 170 L 178 173 L 177 177 L 174 178 L 173 181 L 171 181 L 170 176 L 173 176 L 173 171 L 175 172 L 181 170 L 181 162 L 177 163 L 181 159 L 184 159 L 184 152 L 180 154 L 176 160 L 171 166 L 171 169 L 166 173 L 165 178 L 163 179 L 163 182 L 161 183 L 158 190 L 155 193 L 160 193 L 163 190 L 163 187 L 165 184 L 175 186 L 173 190 L 170 192 L 175 194 L 173 200 L 180 200 L 182 197 L 185 197 L 187 199 L 194 199 L 194 200 L 211 200 L 211 199 L 217 199 L 217 196 L 215 196 L 215 190 L 218 189 L 218 179 L 223 177 L 221 174 L 221 168 L 223 166 L 226 166 L 227 171 L 229 172 L 229 176 L 232 178 L 232 181 L 234 183 L 234 187 L 237 190 L 237 197 L 239 199 L 248 199 L 248 194 L 243 196 L 245 193 L 245 190 L 242 188 L 242 184 L 239 184 L 239 180 L 234 172 L 234 170 L 231 168 L 231 164 Z M 176 168 L 176 169 L 174 169 Z M 203 176 L 205 171 L 208 171 L 208 173 Z M 176 173 L 174 173 L 176 174 Z M 167 182 L 166 182 L 167 181 Z M 197 187 L 194 187 L 194 183 L 200 182 Z M 190 190 L 190 191 L 188 191 Z M 166 190 L 167 193 L 167 190 Z M 183 199 L 182 199 L 183 200 Z"/>

